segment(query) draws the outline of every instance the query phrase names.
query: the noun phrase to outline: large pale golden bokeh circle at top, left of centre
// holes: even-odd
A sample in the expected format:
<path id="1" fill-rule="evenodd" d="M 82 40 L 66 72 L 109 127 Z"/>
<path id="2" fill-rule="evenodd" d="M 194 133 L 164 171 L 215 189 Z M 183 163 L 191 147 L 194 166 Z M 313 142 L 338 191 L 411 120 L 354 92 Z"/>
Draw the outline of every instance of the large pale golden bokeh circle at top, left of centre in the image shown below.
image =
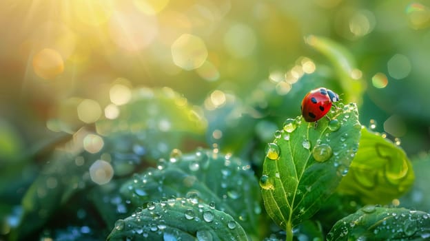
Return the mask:
<path id="1" fill-rule="evenodd" d="M 173 62 L 184 70 L 201 67 L 207 59 L 205 42 L 192 34 L 182 34 L 174 41 L 171 49 Z"/>

